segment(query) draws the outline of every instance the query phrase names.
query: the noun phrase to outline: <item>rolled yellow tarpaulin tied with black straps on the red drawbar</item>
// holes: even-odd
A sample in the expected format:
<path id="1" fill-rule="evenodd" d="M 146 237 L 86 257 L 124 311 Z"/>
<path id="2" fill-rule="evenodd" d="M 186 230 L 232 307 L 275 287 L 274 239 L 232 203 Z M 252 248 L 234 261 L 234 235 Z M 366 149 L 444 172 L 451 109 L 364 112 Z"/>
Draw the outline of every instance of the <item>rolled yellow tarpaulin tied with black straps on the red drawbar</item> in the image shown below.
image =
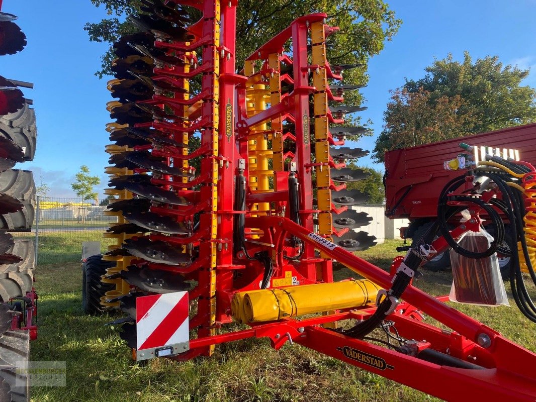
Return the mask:
<path id="1" fill-rule="evenodd" d="M 232 314 L 243 323 L 278 321 L 304 314 L 365 306 L 381 288 L 368 279 L 236 293 Z"/>

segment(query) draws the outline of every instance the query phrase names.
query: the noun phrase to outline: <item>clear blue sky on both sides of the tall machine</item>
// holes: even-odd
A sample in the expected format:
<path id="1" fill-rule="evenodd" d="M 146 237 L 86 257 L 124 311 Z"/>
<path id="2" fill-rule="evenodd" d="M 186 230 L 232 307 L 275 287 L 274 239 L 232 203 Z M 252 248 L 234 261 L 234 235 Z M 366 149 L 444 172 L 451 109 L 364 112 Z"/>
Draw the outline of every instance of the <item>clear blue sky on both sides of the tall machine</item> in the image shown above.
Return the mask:
<path id="1" fill-rule="evenodd" d="M 452 53 L 461 60 L 464 50 L 473 59 L 498 55 L 504 64 L 532 67 L 525 84 L 536 87 L 536 0 L 392 0 L 389 4 L 403 25 L 382 53 L 371 59 L 370 81 L 361 90 L 368 106 L 362 116 L 373 120 L 375 136 L 349 145 L 374 148 L 389 90 L 403 85 L 405 77 L 421 78 L 434 57 Z M 101 176 L 102 196 L 108 159 L 104 146 L 109 142 L 105 125 L 110 121 L 106 102 L 111 96 L 107 79 L 99 80 L 94 72 L 100 68 L 106 45 L 90 42 L 83 27 L 87 21 L 106 17 L 105 11 L 90 0 L 4 0 L 2 11 L 19 16 L 28 46 L 1 58 L 0 75 L 35 83 L 34 90 L 24 92 L 34 100 L 37 151 L 33 162 L 18 167 L 33 170 L 37 184 L 42 176 L 51 188 L 49 196 L 73 197 L 69 184 L 79 166 L 88 165 Z M 361 163 L 382 168 L 368 158 Z"/>

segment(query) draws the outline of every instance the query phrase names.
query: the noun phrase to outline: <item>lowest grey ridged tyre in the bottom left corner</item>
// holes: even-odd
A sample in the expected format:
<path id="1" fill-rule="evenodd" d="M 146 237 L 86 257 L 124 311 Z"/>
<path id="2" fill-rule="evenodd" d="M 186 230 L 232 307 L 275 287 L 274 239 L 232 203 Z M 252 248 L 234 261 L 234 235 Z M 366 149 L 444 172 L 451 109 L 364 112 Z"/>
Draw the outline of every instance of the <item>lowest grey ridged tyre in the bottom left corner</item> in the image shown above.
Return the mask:
<path id="1" fill-rule="evenodd" d="M 29 351 L 29 331 L 10 330 L 0 337 L 0 364 L 20 367 L 20 362 L 28 362 Z M 2 370 L 0 371 L 0 378 L 10 386 L 11 399 L 6 400 L 13 402 L 29 402 L 30 390 L 28 376 L 24 370 L 20 370 L 20 373 L 16 373 L 15 369 Z M 5 386 L 3 386 L 3 389 L 6 389 Z"/>

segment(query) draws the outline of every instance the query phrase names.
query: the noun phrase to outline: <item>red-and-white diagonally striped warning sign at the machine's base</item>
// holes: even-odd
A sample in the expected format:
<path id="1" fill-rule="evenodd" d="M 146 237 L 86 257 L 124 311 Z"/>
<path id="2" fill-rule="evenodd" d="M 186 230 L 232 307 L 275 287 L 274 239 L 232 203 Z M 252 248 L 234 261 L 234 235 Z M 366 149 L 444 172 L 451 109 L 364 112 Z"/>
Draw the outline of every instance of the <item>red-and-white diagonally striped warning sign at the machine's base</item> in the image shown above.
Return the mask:
<path id="1" fill-rule="evenodd" d="M 188 292 L 136 299 L 138 351 L 188 342 Z"/>

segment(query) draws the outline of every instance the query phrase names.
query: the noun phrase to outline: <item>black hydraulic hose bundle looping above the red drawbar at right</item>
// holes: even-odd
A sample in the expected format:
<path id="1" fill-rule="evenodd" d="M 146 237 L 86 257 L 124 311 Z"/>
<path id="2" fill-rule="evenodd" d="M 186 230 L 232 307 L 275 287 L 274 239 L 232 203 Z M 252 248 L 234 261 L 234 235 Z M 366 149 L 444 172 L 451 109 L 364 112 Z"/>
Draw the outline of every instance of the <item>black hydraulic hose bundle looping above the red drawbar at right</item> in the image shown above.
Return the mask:
<path id="1" fill-rule="evenodd" d="M 487 161 L 481 161 L 471 174 L 478 174 L 478 178 L 486 177 L 494 184 L 492 188 L 500 190 L 501 199 L 489 198 L 486 202 L 479 193 L 472 191 L 460 191 L 459 188 L 466 182 L 466 176 L 460 176 L 445 185 L 438 202 L 438 219 L 421 241 L 416 242 L 408 251 L 403 263 L 400 265 L 393 285 L 389 291 L 378 294 L 378 308 L 368 319 L 355 325 L 351 329 L 341 330 L 347 336 L 354 338 L 366 337 L 368 333 L 376 329 L 387 315 L 396 307 L 398 299 L 410 284 L 416 270 L 426 263 L 426 247 L 431 244 L 437 232 L 440 232 L 445 241 L 458 254 L 468 258 L 485 258 L 495 252 L 511 256 L 513 262 L 510 265 L 510 283 L 513 298 L 523 314 L 536 322 L 536 306 L 531 299 L 523 281 L 522 266 L 526 267 L 530 277 L 536 284 L 534 265 L 536 262 L 536 170 L 525 162 L 506 160 L 498 156 L 486 155 Z M 489 191 L 484 185 L 480 190 Z M 491 189 L 491 188 L 490 188 Z M 460 202 L 463 205 L 449 205 L 452 202 Z M 474 252 L 466 250 L 458 244 L 451 235 L 448 221 L 456 214 L 467 209 L 466 204 L 474 204 L 485 211 L 494 228 L 494 240 L 485 251 Z M 515 230 L 515 236 L 519 244 L 519 254 L 503 247 L 505 227 L 501 211 L 510 221 Z M 422 250 L 425 248 L 425 250 Z M 432 258 L 430 256 L 430 258 Z M 525 264 L 520 264 L 520 259 Z"/>

